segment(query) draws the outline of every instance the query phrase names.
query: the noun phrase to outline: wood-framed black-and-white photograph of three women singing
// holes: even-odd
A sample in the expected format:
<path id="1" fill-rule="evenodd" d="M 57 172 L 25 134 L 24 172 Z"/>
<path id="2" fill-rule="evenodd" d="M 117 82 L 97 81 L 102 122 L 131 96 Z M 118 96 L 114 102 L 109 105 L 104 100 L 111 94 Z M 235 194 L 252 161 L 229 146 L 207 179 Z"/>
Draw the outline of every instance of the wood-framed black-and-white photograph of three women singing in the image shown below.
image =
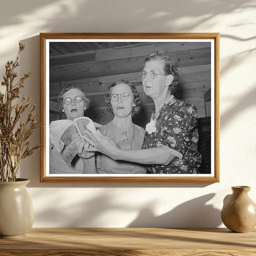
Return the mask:
<path id="1" fill-rule="evenodd" d="M 41 182 L 219 182 L 219 33 L 41 33 Z"/>

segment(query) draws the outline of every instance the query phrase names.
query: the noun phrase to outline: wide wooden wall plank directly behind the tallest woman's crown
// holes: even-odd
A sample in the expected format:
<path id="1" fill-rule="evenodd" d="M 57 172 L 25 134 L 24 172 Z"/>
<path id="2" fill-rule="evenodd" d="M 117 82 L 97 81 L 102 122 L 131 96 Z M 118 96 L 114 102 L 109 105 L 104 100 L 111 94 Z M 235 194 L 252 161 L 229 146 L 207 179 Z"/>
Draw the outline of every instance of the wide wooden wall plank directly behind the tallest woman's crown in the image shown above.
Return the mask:
<path id="1" fill-rule="evenodd" d="M 166 53 L 170 54 L 170 53 Z M 198 66 L 210 64 L 210 49 L 184 50 L 172 55 L 177 68 L 183 66 Z M 147 55 L 105 60 L 102 62 L 88 62 L 55 66 L 50 68 L 50 82 L 67 81 L 74 79 L 96 78 L 113 74 L 134 73 L 143 68 Z"/>

